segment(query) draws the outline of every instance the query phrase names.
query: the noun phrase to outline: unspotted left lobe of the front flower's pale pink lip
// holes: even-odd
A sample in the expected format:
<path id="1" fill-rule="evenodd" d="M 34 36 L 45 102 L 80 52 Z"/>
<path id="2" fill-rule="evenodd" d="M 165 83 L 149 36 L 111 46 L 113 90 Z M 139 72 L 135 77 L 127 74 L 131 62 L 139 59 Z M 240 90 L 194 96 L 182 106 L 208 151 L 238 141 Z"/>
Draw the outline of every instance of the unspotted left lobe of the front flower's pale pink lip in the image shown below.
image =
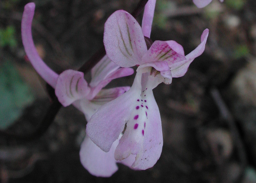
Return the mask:
<path id="1" fill-rule="evenodd" d="M 122 133 L 140 94 L 141 74 L 137 73 L 130 90 L 101 106 L 88 121 L 87 135 L 105 152 L 109 151 L 112 143 Z"/>

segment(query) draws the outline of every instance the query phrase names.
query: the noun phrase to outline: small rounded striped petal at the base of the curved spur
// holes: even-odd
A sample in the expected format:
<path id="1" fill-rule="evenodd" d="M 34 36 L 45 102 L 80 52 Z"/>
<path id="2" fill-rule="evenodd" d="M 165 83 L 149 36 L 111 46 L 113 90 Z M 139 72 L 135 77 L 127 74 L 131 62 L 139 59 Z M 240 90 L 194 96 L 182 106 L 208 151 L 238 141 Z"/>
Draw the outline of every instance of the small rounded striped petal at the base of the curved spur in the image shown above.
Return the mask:
<path id="1" fill-rule="evenodd" d="M 68 106 L 76 100 L 84 98 L 90 92 L 84 73 L 75 70 L 65 70 L 57 79 L 55 95 L 63 106 Z"/>

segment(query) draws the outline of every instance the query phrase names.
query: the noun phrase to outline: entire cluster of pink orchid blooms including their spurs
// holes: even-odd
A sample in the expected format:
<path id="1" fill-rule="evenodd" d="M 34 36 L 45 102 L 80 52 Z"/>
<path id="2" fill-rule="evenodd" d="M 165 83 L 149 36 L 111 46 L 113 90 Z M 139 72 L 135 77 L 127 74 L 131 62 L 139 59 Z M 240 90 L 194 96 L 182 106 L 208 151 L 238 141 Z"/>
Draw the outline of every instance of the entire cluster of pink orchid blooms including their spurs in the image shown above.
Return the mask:
<path id="1" fill-rule="evenodd" d="M 193 2 L 204 7 L 210 0 Z M 155 41 L 147 49 L 144 37 L 150 38 L 155 3 L 147 2 L 142 26 L 124 10 L 107 19 L 103 38 L 106 56 L 91 69 L 89 83 L 83 72 L 68 69 L 58 75 L 39 57 L 31 33 L 35 4 L 25 5 L 21 24 L 25 53 L 37 73 L 55 89 L 59 102 L 63 106 L 72 104 L 84 113 L 88 123 L 80 159 L 92 175 L 113 175 L 117 162 L 138 170 L 157 162 L 163 135 L 152 90 L 162 82 L 170 84 L 172 78 L 184 76 L 190 63 L 204 51 L 208 29 L 202 33 L 201 44 L 186 56 L 183 47 L 172 40 Z M 132 75 L 130 67 L 135 65 L 131 87 L 103 89 L 116 78 Z"/>

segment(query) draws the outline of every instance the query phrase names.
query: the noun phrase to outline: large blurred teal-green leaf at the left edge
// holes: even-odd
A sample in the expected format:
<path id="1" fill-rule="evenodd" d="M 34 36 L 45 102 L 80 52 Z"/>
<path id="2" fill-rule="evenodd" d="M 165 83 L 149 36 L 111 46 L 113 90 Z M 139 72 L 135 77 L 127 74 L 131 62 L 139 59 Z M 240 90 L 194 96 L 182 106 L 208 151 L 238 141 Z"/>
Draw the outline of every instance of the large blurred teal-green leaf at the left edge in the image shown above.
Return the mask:
<path id="1" fill-rule="evenodd" d="M 0 128 L 6 129 L 20 117 L 24 107 L 33 102 L 34 96 L 10 61 L 0 67 L 0 86 Z"/>

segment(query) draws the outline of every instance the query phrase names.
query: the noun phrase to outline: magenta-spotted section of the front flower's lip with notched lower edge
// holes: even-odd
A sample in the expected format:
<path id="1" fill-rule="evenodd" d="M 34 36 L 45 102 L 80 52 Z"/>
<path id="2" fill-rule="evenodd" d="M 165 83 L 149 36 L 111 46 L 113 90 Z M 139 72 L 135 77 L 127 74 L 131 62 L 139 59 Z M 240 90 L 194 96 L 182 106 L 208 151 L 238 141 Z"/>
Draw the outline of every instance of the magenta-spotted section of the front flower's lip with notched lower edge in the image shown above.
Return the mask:
<path id="1" fill-rule="evenodd" d="M 161 155 L 163 135 L 159 109 L 151 88 L 141 92 L 126 124 L 115 159 L 122 160 L 132 154 L 136 155 L 133 168 L 144 170 L 152 167 Z"/>

